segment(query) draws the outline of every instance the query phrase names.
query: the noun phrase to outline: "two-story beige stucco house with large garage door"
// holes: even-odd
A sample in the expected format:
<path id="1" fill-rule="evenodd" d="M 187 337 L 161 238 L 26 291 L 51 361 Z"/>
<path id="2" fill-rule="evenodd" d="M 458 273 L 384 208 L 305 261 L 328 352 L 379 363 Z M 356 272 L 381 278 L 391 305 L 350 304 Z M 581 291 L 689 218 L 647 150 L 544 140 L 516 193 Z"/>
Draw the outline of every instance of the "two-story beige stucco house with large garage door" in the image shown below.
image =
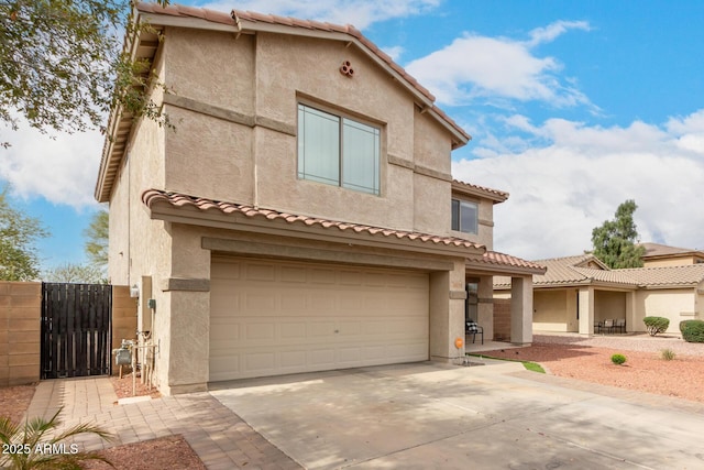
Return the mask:
<path id="1" fill-rule="evenodd" d="M 176 129 L 113 109 L 96 197 L 163 393 L 463 357 L 468 311 L 491 335 L 494 274 L 513 280 L 510 339 L 531 341 L 544 270 L 491 251 L 508 195 L 452 181 L 470 135 L 359 31 L 136 9 L 151 29 L 128 50 Z"/>

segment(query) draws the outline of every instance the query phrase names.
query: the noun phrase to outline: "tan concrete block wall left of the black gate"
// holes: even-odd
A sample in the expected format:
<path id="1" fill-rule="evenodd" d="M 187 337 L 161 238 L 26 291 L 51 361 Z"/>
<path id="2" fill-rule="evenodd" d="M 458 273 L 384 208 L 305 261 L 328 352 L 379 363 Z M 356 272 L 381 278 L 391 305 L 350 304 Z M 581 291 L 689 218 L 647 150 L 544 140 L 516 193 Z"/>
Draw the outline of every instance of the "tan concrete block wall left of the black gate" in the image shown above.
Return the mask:
<path id="1" fill-rule="evenodd" d="M 42 283 L 0 281 L 0 386 L 40 380 Z"/>

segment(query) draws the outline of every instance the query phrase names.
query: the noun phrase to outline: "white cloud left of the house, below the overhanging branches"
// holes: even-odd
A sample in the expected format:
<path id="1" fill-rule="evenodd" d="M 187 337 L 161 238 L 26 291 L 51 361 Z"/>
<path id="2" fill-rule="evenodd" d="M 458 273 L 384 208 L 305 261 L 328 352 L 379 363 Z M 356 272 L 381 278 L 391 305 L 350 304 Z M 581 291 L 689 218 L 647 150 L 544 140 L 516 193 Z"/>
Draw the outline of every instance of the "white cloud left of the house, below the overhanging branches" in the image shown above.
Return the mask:
<path id="1" fill-rule="evenodd" d="M 0 178 L 20 197 L 44 197 L 76 209 L 97 204 L 94 188 L 105 136 L 100 132 L 58 134 L 56 139 L 21 124 L 3 134 Z"/>

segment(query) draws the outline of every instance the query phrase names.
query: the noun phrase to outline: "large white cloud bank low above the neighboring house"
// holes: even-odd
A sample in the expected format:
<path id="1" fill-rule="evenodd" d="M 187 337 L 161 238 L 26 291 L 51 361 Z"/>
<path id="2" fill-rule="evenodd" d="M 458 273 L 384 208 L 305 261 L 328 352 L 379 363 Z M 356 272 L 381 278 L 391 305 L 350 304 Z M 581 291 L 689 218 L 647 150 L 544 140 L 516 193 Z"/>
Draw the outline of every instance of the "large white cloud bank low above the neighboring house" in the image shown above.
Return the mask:
<path id="1" fill-rule="evenodd" d="M 550 143 L 516 153 L 480 149 L 491 156 L 452 168 L 459 179 L 510 193 L 495 206 L 496 250 L 534 260 L 580 254 L 626 199 L 638 205 L 641 241 L 704 249 L 704 110 L 661 127 L 513 122 Z"/>

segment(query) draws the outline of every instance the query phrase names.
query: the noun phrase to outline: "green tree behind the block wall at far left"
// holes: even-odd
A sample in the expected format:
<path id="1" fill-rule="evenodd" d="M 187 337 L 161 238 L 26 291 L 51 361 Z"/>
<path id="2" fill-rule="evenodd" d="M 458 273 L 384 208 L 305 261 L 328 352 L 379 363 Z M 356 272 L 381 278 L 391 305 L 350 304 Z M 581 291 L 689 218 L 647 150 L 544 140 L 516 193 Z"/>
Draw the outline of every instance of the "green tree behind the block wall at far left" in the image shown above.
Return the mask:
<path id="1" fill-rule="evenodd" d="M 34 242 L 48 236 L 41 221 L 13 209 L 8 188 L 0 193 L 0 280 L 33 281 L 38 277 Z"/>

